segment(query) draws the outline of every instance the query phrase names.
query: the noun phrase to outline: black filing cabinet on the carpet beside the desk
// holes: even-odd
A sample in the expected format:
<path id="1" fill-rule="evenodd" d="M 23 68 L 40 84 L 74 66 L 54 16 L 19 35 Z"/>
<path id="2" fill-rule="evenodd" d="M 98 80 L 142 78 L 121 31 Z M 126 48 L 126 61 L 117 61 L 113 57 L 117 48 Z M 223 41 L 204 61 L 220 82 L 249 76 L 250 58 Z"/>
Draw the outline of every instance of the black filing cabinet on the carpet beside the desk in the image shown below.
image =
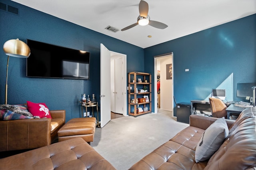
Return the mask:
<path id="1" fill-rule="evenodd" d="M 177 121 L 189 124 L 190 103 L 177 103 Z"/>

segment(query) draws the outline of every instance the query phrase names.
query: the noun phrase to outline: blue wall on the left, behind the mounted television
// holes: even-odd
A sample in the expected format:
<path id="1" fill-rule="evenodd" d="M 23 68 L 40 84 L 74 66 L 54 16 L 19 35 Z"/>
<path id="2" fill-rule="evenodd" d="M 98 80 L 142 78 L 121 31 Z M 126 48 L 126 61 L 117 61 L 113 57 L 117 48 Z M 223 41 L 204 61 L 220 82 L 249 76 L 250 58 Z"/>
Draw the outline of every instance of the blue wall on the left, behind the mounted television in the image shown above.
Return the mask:
<path id="1" fill-rule="evenodd" d="M 82 94 L 100 99 L 100 43 L 110 51 L 127 55 L 127 71 L 144 72 L 144 49 L 28 8 L 10 0 L 0 0 L 19 9 L 19 15 L 0 10 L 0 104 L 4 104 L 7 55 L 2 47 L 9 39 L 41 41 L 90 52 L 90 80 L 26 77 L 26 59 L 10 57 L 8 104 L 44 102 L 50 110 L 65 109 L 66 121 L 81 117 L 78 100 Z M 104 29 L 104 28 L 102 28 Z M 118 32 L 120 33 L 120 32 Z M 137 62 L 134 62 L 134 58 Z"/>

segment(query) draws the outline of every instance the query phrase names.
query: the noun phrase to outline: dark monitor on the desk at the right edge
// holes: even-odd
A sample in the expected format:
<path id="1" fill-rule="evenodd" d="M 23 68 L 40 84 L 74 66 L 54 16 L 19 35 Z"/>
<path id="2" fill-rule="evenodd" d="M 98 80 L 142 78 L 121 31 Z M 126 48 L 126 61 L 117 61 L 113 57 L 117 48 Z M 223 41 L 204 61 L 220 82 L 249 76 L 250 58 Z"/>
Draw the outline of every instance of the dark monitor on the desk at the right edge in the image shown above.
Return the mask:
<path id="1" fill-rule="evenodd" d="M 256 83 L 238 83 L 236 96 L 237 97 L 253 97 L 252 95 L 252 87 L 256 86 Z"/>

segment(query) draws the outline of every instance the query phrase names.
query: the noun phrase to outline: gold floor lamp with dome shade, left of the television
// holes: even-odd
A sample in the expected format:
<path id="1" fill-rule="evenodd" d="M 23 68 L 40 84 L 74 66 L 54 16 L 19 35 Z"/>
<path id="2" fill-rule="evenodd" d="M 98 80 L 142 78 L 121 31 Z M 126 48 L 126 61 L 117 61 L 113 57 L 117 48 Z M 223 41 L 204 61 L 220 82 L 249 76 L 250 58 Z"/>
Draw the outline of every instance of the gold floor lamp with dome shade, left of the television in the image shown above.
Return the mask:
<path id="1" fill-rule="evenodd" d="M 7 69 L 6 69 L 6 84 L 5 84 L 5 104 L 7 104 L 7 79 L 8 79 L 8 64 L 9 57 L 28 58 L 30 49 L 26 43 L 19 39 L 10 39 L 4 43 L 4 53 L 8 55 Z"/>

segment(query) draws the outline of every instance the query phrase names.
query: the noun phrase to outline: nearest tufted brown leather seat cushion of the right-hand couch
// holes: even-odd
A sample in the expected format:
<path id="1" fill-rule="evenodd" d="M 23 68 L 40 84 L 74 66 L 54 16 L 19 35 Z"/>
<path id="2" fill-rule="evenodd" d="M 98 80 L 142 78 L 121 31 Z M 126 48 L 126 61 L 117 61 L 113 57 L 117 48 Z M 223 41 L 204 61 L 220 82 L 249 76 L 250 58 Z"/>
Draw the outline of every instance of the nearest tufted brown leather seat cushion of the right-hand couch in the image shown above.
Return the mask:
<path id="1" fill-rule="evenodd" d="M 195 151 L 168 141 L 134 164 L 129 170 L 203 170 L 207 162 L 195 163 Z"/>

